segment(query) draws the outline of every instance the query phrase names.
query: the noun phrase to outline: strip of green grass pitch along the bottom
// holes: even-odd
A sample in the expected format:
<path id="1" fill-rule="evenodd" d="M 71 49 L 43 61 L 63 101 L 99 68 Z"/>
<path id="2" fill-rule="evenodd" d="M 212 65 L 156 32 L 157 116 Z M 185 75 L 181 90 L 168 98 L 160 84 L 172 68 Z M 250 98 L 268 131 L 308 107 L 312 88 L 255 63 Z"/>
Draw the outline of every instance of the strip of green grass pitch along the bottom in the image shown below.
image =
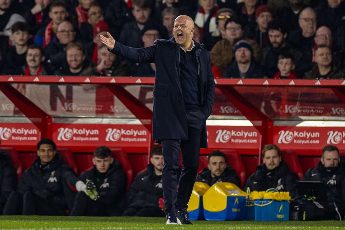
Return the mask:
<path id="1" fill-rule="evenodd" d="M 345 229 L 345 221 L 192 221 L 193 226 L 165 225 L 165 218 L 0 216 L 0 229 L 125 230 L 125 229 Z"/>

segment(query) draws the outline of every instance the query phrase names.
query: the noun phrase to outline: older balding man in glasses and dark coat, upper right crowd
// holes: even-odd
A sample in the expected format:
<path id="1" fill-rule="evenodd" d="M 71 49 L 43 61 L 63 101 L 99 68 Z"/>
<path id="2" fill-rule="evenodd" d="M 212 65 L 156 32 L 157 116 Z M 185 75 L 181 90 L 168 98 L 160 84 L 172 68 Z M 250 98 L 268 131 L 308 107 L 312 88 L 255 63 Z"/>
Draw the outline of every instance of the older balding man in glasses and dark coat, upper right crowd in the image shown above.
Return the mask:
<path id="1" fill-rule="evenodd" d="M 316 32 L 316 13 L 307 7 L 299 14 L 299 30 L 289 34 L 289 41 L 302 52 L 299 65 L 296 66 L 297 76 L 303 76 L 305 72 L 312 69 L 313 47 L 315 45 L 314 36 Z"/>

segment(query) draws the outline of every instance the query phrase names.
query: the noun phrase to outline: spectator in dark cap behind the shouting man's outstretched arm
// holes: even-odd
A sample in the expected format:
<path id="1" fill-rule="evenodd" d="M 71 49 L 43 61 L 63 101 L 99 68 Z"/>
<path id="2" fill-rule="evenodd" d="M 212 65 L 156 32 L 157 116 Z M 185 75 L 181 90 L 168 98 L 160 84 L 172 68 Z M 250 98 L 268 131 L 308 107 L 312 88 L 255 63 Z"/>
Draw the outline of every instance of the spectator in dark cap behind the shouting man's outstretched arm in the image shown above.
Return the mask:
<path id="1" fill-rule="evenodd" d="M 142 35 L 144 47 L 152 46 L 155 40 L 160 39 L 160 33 L 157 28 L 148 28 Z M 133 63 L 130 67 L 130 76 L 133 77 L 155 77 L 155 63 Z"/>

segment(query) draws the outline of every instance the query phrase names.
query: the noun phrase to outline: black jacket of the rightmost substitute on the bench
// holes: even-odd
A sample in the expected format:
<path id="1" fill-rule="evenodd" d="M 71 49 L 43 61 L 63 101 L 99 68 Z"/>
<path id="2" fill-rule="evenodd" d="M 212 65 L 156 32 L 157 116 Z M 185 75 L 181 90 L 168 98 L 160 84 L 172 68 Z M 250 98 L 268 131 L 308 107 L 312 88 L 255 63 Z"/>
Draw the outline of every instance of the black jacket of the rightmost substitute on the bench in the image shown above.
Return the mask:
<path id="1" fill-rule="evenodd" d="M 338 167 L 325 168 L 319 161 L 317 167 L 309 169 L 302 180 L 323 181 L 327 188 L 329 202 L 345 204 L 345 167 L 339 163 Z"/>

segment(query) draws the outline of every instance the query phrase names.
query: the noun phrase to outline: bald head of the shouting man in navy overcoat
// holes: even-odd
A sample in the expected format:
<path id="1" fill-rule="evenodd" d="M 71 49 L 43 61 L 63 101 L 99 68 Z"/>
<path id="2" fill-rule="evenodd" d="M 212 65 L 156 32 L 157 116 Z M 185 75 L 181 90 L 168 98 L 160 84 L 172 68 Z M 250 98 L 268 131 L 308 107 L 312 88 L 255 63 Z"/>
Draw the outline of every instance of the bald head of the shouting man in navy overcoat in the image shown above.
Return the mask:
<path id="1" fill-rule="evenodd" d="M 178 16 L 174 23 L 174 38 L 184 50 L 192 46 L 194 21 L 187 15 Z"/>

